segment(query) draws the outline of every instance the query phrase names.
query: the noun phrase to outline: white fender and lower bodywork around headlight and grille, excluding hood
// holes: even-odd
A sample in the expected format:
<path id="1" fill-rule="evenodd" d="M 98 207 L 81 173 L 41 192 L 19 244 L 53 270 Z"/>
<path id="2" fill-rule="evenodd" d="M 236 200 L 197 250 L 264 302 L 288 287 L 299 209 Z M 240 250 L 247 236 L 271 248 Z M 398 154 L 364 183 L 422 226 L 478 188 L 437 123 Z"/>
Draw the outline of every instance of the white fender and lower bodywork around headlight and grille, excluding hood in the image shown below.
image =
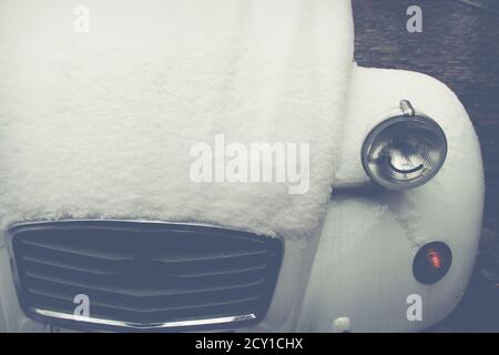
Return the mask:
<path id="1" fill-rule="evenodd" d="M 478 140 L 465 109 L 432 78 L 357 67 L 353 71 L 342 169 L 323 225 L 309 240 L 285 241 L 265 320 L 240 331 L 332 332 L 338 317 L 348 317 L 353 332 L 421 331 L 447 316 L 466 290 L 480 235 L 483 176 Z M 369 183 L 360 164 L 363 140 L 401 99 L 442 126 L 449 143 L 447 161 L 424 186 L 359 192 L 358 186 Z M 434 241 L 450 246 L 454 262 L 444 280 L 424 285 L 413 276 L 413 258 Z M 22 313 L 10 255 L 2 244 L 0 331 L 51 331 Z M 407 320 L 410 294 L 422 298 L 420 322 Z"/>

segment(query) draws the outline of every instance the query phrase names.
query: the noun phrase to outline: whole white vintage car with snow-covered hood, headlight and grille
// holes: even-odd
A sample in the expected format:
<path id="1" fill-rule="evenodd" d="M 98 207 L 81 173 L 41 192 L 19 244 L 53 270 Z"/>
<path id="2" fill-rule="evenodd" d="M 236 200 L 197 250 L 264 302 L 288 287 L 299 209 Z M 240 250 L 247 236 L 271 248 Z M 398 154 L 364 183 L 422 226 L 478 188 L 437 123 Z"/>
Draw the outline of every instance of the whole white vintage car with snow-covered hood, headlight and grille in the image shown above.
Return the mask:
<path id="1" fill-rule="evenodd" d="M 0 0 L 0 331 L 417 332 L 452 312 L 477 135 L 436 79 L 356 65 L 349 1 L 80 2 Z M 243 159 L 254 143 L 282 175 Z"/>

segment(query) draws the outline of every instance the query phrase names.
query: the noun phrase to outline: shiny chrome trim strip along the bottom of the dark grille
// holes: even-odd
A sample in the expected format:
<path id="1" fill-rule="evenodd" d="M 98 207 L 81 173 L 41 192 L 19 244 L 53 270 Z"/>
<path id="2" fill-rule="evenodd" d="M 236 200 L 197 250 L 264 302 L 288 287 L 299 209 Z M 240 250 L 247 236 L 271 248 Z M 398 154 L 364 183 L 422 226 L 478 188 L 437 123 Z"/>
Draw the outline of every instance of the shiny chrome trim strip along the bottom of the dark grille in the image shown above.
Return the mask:
<path id="1" fill-rule="evenodd" d="M 52 317 L 52 318 L 89 323 L 90 326 L 94 325 L 94 324 L 99 324 L 99 325 L 104 325 L 104 326 L 114 326 L 114 327 L 122 327 L 122 328 L 124 327 L 124 328 L 130 328 L 130 329 L 161 329 L 161 328 L 189 327 L 189 326 L 201 326 L 201 325 L 218 325 L 218 324 L 237 323 L 237 322 L 256 320 L 256 315 L 251 313 L 251 314 L 236 315 L 236 316 L 230 316 L 230 317 L 140 324 L 140 323 L 126 323 L 126 322 L 120 322 L 120 321 L 104 320 L 104 318 L 85 317 L 85 316 L 81 316 L 81 315 L 73 315 L 73 314 L 68 314 L 68 313 L 60 313 L 60 312 L 38 310 L 38 308 L 32 308 L 31 312 L 42 315 L 42 316 Z"/>

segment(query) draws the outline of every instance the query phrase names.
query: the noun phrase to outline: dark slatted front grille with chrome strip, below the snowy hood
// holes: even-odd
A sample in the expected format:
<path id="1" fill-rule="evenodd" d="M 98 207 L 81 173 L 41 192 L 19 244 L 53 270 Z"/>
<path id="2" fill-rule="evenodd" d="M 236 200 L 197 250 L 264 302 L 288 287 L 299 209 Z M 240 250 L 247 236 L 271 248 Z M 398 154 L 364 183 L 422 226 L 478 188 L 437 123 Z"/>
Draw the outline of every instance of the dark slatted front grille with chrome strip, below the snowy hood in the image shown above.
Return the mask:
<path id="1" fill-rule="evenodd" d="M 278 239 L 187 224 L 53 222 L 10 234 L 23 311 L 91 328 L 251 325 L 265 316 L 283 254 Z M 79 294 L 88 318 L 72 316 Z"/>

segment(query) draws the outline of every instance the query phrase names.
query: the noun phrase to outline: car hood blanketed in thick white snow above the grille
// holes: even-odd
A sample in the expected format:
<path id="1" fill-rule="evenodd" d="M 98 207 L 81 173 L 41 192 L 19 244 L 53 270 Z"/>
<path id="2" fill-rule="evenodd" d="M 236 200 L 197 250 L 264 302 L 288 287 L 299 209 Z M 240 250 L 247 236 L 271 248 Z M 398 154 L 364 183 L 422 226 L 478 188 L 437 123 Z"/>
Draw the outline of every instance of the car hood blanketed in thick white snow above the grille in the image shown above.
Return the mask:
<path id="1" fill-rule="evenodd" d="M 338 163 L 349 1 L 80 2 L 0 0 L 1 225 L 133 219 L 309 235 Z M 308 144 L 306 192 L 195 182 L 193 148 L 217 139 Z"/>

